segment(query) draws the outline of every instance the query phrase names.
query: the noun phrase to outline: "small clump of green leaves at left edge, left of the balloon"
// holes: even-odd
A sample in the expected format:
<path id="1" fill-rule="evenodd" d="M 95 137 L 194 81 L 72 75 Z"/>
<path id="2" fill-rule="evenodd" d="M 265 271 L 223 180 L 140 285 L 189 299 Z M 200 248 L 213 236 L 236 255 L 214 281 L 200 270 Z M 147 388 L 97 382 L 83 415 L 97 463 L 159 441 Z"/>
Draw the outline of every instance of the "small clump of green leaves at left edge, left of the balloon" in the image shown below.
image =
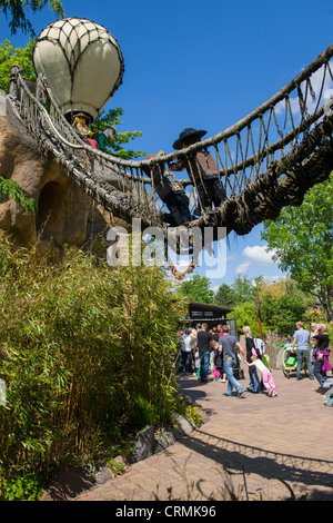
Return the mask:
<path id="1" fill-rule="evenodd" d="M 36 72 L 32 66 L 32 51 L 34 40 L 30 39 L 24 48 L 13 48 L 9 40 L 0 43 L 0 89 L 9 92 L 9 81 L 11 68 L 16 65 L 22 68 L 26 80 L 36 80 Z"/>

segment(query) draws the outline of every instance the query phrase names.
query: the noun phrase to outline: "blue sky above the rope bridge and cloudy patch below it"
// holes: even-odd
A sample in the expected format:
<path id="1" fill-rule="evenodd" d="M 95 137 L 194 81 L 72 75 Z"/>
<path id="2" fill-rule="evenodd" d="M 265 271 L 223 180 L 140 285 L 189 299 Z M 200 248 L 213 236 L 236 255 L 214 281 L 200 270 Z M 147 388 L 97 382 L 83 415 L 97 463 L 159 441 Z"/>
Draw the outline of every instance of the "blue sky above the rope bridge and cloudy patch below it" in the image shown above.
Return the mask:
<path id="1" fill-rule="evenodd" d="M 119 130 L 141 130 L 131 147 L 148 154 L 172 151 L 186 127 L 211 137 L 230 127 L 294 78 L 332 42 L 332 0 L 279 2 L 211 0 L 63 0 L 68 17 L 103 24 L 118 40 L 125 65 L 123 83 L 108 107 L 122 107 Z M 30 16 L 36 33 L 54 16 Z M 1 41 L 19 47 L 0 17 Z M 264 253 L 261 226 L 231 236 L 226 270 L 212 286 L 238 274 L 279 277 Z M 205 275 L 200 267 L 198 274 Z"/>

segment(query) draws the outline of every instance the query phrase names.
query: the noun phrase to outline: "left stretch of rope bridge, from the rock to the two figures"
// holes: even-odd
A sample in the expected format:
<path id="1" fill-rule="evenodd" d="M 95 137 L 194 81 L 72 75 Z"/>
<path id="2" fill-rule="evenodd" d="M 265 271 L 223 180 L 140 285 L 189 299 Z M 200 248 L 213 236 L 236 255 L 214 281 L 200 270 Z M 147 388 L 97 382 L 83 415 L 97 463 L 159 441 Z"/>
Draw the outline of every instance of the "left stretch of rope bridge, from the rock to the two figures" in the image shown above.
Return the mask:
<path id="1" fill-rule="evenodd" d="M 160 225 L 153 220 L 154 200 L 144 184 L 123 167 L 108 161 L 109 155 L 98 158 L 93 149 L 74 132 L 52 99 L 46 80 L 38 78 L 36 95 L 28 88 L 14 67 L 9 100 L 11 107 L 39 144 L 42 151 L 51 152 L 65 171 L 92 196 L 97 203 L 127 221 L 138 216 L 145 226 Z M 103 156 L 105 157 L 103 159 Z"/>

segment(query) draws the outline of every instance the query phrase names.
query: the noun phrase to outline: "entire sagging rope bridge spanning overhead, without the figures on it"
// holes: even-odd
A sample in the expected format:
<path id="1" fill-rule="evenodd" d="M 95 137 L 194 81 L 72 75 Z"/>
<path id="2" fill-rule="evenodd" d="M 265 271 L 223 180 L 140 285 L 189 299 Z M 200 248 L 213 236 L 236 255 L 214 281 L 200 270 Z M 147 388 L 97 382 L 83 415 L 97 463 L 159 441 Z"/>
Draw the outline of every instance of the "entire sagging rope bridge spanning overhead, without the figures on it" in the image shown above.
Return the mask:
<path id="1" fill-rule="evenodd" d="M 216 208 L 203 207 L 188 168 L 188 176 L 178 175 L 178 180 L 186 189 L 191 214 L 200 207 L 200 216 L 192 214 L 174 231 L 213 227 L 216 233 L 225 227 L 228 234 L 245 235 L 276 218 L 283 207 L 301 205 L 306 191 L 333 169 L 333 110 L 327 98 L 327 92 L 333 95 L 332 57 L 333 43 L 275 96 L 212 138 L 141 161 L 117 158 L 82 141 L 41 76 L 32 93 L 20 68 L 13 67 L 9 100 L 40 149 L 53 155 L 97 203 L 129 223 L 140 218 L 145 228 L 160 227 L 165 235 L 170 221 L 157 184 L 174 162 L 195 167 L 198 154 L 210 152 L 224 199 Z"/>

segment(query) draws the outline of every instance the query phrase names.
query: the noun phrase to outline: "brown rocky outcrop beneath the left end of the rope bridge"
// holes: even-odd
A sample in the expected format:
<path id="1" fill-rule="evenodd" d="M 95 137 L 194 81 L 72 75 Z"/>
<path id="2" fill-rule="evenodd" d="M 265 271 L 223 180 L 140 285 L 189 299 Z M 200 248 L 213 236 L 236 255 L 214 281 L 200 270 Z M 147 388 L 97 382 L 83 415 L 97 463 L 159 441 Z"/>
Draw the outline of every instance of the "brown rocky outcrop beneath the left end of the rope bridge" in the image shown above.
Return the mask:
<path id="1" fill-rule="evenodd" d="M 82 247 L 91 235 L 111 226 L 110 214 L 84 194 L 51 155 L 41 154 L 3 96 L 0 174 L 17 181 L 38 206 L 37 215 L 28 216 L 13 200 L 0 200 L 0 229 L 8 231 L 16 245 L 38 244 L 57 259 L 63 245 Z"/>

